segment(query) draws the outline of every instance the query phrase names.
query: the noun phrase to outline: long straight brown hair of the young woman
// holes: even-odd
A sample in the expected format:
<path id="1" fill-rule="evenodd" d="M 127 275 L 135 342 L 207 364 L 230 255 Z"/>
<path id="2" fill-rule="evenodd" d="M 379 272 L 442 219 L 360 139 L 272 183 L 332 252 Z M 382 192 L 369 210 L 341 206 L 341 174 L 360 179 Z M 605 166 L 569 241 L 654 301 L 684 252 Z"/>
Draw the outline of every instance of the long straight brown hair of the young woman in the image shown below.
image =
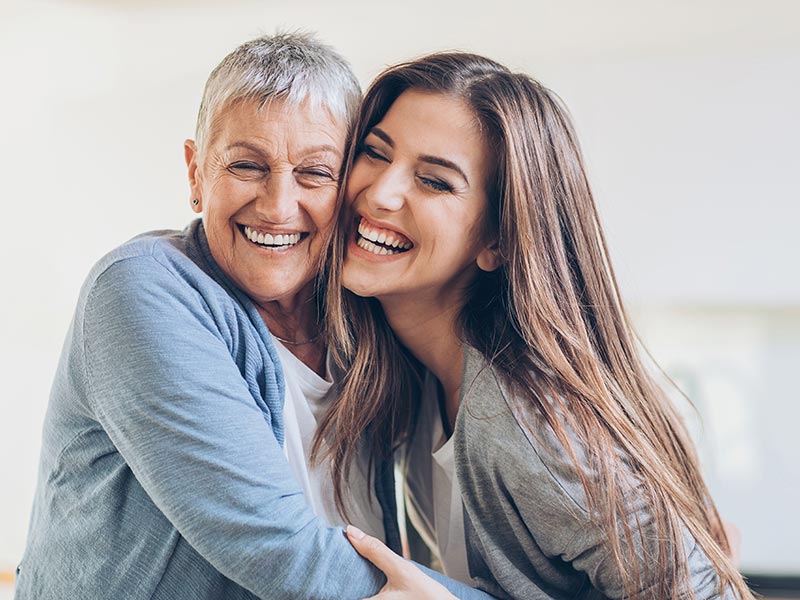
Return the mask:
<path id="1" fill-rule="evenodd" d="M 517 391 L 518 402 L 541 412 L 575 462 L 626 596 L 650 597 L 640 590 L 656 581 L 652 597 L 682 597 L 690 586 L 685 526 L 716 568 L 720 592 L 751 598 L 725 554 L 728 541 L 683 422 L 640 358 L 565 108 L 530 77 L 473 54 L 401 64 L 379 75 L 364 97 L 345 177 L 364 137 L 408 89 L 467 102 L 494 156 L 487 226 L 497 233 L 502 266 L 477 275 L 460 333 Z M 345 375 L 314 445 L 316 457 L 321 440 L 328 444 L 343 514 L 359 443 L 380 460 L 409 438 L 420 375 L 379 302 L 341 288 L 347 213 L 334 232 L 327 295 L 331 351 Z M 657 540 L 645 540 L 624 518 L 633 485 L 624 473 L 633 474 L 635 493 L 652 511 Z M 657 548 L 652 565 L 637 559 L 637 540 Z"/>

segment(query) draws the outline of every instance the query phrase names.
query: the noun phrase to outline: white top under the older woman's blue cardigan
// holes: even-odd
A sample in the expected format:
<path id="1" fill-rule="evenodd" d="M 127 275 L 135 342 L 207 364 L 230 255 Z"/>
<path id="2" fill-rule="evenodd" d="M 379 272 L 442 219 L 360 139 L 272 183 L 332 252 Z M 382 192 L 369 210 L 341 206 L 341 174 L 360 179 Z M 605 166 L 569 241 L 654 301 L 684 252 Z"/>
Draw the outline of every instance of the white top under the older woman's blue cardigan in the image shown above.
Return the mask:
<path id="1" fill-rule="evenodd" d="M 330 405 L 331 399 L 326 393 L 332 382 L 317 375 L 275 336 L 272 339 L 286 379 L 283 451 L 314 514 L 324 519 L 328 525 L 345 525 L 333 499 L 329 462 L 325 460 L 313 468 L 309 466 L 317 423 Z M 350 520 L 353 525 L 383 540 L 385 533 L 381 509 L 374 495 L 369 497 L 365 470 L 358 468 L 360 466 L 353 465 L 347 486 L 348 493 L 354 500 L 347 504 Z"/>

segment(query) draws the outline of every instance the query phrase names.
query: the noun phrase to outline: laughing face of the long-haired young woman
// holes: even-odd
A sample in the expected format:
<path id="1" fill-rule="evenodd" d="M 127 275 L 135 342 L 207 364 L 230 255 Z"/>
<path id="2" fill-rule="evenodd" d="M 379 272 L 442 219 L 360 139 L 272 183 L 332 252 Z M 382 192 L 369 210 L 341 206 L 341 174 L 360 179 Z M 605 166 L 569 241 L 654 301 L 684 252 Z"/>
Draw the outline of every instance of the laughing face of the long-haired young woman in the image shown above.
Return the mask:
<path id="1" fill-rule="evenodd" d="M 403 92 L 367 133 L 347 182 L 344 286 L 382 302 L 460 306 L 477 268 L 497 266 L 485 227 L 490 169 L 468 105 Z"/>

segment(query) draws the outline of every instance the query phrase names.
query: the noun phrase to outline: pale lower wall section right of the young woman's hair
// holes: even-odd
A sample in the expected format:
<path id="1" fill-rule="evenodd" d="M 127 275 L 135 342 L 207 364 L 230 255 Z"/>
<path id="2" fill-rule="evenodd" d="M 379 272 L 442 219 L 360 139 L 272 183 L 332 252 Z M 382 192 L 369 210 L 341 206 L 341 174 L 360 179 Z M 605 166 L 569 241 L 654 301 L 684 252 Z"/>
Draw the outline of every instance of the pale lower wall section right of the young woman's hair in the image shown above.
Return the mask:
<path id="1" fill-rule="evenodd" d="M 697 409 L 676 395 L 717 507 L 742 529 L 742 567 L 800 574 L 800 306 L 649 305 L 635 318 Z"/>

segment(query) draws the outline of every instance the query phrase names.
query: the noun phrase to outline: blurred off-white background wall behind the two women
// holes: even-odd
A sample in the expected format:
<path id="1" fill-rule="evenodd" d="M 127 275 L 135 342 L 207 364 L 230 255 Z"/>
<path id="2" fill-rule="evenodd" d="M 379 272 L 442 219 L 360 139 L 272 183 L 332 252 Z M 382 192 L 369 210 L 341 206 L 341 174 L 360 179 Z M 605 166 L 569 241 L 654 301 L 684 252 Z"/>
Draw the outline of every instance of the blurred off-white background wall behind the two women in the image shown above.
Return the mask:
<path id="1" fill-rule="evenodd" d="M 234 46 L 303 28 L 364 85 L 428 51 L 554 89 L 621 286 L 687 409 L 745 571 L 800 575 L 800 3 L 0 0 L 0 572 L 24 547 L 50 380 L 92 263 L 191 218 L 182 144 Z"/>

